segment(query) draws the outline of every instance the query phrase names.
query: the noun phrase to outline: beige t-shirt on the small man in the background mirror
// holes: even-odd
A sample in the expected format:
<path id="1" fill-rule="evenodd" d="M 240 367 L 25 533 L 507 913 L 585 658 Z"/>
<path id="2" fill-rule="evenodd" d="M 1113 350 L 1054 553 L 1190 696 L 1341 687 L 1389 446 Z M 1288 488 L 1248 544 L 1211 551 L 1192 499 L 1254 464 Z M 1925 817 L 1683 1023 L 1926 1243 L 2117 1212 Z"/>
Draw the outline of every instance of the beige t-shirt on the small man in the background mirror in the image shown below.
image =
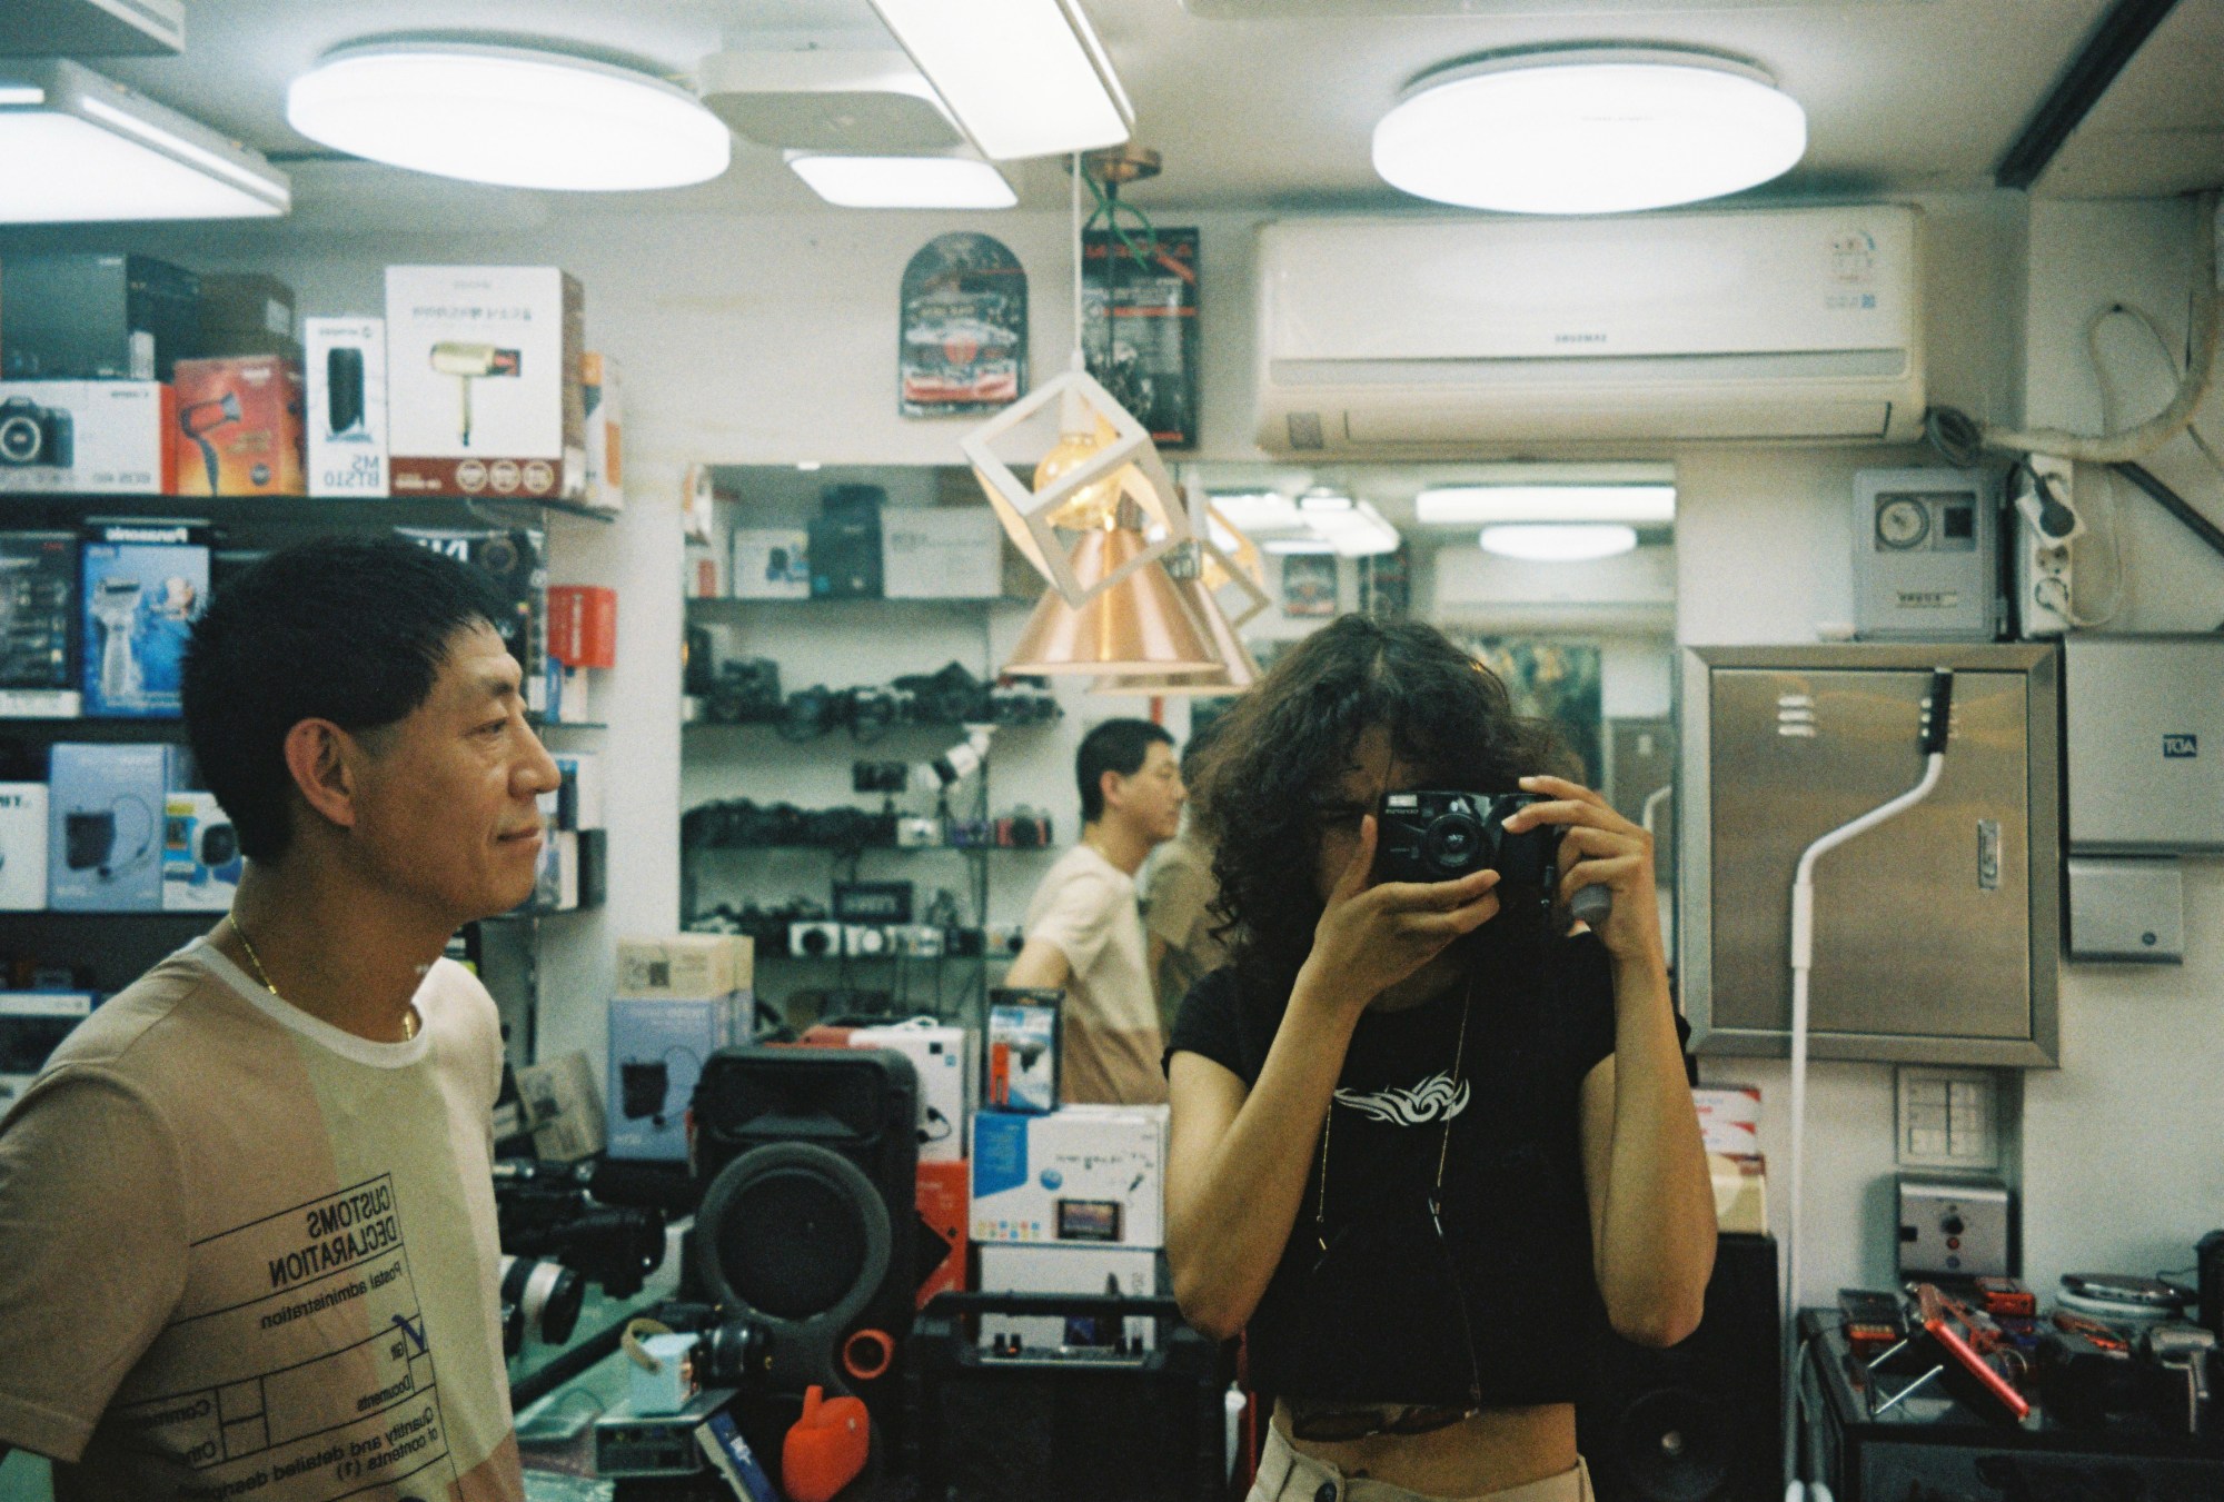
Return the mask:
<path id="1" fill-rule="evenodd" d="M 1027 938 L 1065 955 L 1059 1098 L 1070 1104 L 1148 1107 L 1165 1100 L 1159 1002 L 1150 987 L 1134 878 L 1092 844 L 1076 844 L 1034 889 Z"/>

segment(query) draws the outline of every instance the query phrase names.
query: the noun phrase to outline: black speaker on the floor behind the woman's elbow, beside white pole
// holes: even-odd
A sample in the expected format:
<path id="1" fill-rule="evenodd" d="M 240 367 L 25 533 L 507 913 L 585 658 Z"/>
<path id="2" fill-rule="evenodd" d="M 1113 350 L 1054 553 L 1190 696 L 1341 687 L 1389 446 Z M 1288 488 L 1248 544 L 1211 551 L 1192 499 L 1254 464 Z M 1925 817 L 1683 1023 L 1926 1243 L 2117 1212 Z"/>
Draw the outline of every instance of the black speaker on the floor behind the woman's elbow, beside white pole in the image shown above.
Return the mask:
<path id="1" fill-rule="evenodd" d="M 1655 1351 L 1590 1335 L 1577 1444 L 1599 1502 L 1775 1502 L 1784 1495 L 1777 1244 L 1724 1235 L 1706 1318 Z"/>

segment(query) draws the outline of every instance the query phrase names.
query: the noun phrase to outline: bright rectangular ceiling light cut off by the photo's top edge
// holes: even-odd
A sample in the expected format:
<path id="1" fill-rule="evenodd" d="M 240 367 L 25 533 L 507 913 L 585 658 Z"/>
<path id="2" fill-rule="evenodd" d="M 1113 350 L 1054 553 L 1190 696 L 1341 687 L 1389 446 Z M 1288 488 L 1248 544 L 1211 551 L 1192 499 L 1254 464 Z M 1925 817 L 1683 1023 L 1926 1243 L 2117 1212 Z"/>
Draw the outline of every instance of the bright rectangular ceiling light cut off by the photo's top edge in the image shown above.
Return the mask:
<path id="1" fill-rule="evenodd" d="M 981 156 L 1116 147 L 1134 107 L 1074 0 L 872 0 Z"/>

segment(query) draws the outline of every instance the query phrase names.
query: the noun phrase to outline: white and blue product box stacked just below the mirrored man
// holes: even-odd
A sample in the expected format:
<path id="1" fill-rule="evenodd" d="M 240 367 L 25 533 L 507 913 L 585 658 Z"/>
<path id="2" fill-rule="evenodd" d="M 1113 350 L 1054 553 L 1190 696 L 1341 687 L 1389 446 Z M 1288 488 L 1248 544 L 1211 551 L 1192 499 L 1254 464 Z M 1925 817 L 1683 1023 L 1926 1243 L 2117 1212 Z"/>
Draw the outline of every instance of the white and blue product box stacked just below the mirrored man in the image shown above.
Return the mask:
<path id="1" fill-rule="evenodd" d="M 1165 1244 L 1165 1107 L 981 1111 L 972 1126 L 974 1240 Z"/>

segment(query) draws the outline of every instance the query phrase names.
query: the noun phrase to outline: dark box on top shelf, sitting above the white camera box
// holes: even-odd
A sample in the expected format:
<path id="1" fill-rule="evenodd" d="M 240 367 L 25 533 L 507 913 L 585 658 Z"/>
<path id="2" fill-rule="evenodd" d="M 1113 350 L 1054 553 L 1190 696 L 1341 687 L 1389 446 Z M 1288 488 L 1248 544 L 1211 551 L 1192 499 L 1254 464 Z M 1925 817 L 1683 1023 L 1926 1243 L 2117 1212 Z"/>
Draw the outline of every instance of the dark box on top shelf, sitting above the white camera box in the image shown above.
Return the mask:
<path id="1" fill-rule="evenodd" d="M 0 256 L 0 376 L 169 380 L 200 349 L 200 278 L 153 256 Z"/>

